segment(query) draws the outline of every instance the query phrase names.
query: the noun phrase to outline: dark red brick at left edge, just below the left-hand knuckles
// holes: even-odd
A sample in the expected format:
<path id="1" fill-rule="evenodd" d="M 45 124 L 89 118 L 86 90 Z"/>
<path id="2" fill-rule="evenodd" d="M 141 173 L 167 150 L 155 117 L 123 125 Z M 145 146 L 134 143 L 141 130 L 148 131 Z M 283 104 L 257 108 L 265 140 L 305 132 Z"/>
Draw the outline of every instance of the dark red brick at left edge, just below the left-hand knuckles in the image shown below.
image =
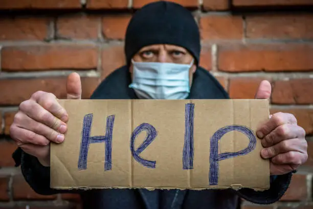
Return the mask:
<path id="1" fill-rule="evenodd" d="M 0 167 L 9 167 L 15 165 L 12 154 L 16 148 L 17 146 L 15 142 L 0 140 Z"/>

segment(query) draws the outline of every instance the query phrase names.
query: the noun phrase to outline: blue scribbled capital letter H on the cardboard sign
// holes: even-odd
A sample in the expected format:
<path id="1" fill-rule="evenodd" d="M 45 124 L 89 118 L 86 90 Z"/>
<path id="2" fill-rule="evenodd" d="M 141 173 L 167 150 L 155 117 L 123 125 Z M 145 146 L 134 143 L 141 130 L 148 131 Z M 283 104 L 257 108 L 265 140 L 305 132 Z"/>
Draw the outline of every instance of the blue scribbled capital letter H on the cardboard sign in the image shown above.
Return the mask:
<path id="1" fill-rule="evenodd" d="M 91 127 L 93 123 L 93 114 L 84 116 L 82 139 L 80 144 L 80 152 L 78 158 L 78 170 L 87 169 L 87 156 L 89 144 L 105 142 L 105 159 L 104 159 L 104 171 L 111 170 L 112 168 L 112 135 L 114 126 L 114 115 L 110 115 L 106 118 L 106 131 L 105 136 L 90 136 Z"/>

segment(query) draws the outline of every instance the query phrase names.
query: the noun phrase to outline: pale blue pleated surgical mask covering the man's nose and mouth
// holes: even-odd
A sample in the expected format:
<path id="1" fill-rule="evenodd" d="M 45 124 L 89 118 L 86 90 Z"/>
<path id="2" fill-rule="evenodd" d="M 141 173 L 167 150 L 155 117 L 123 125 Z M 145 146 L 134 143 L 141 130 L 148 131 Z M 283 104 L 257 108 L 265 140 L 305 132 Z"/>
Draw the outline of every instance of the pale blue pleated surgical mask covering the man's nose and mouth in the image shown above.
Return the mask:
<path id="1" fill-rule="evenodd" d="M 193 65 L 168 62 L 135 62 L 129 85 L 140 99 L 186 99 L 190 92 L 189 70 Z"/>

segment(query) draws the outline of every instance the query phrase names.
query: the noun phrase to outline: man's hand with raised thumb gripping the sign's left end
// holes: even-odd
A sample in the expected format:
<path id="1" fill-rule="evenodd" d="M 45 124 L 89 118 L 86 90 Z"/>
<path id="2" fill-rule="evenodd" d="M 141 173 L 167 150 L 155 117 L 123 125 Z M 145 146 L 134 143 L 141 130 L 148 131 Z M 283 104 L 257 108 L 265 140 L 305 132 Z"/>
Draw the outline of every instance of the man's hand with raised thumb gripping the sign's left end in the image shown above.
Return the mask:
<path id="1" fill-rule="evenodd" d="M 81 81 L 77 73 L 66 81 L 68 99 L 81 99 Z M 69 116 L 54 94 L 37 91 L 19 105 L 10 127 L 10 135 L 18 147 L 50 166 L 50 142 L 61 143 Z"/>

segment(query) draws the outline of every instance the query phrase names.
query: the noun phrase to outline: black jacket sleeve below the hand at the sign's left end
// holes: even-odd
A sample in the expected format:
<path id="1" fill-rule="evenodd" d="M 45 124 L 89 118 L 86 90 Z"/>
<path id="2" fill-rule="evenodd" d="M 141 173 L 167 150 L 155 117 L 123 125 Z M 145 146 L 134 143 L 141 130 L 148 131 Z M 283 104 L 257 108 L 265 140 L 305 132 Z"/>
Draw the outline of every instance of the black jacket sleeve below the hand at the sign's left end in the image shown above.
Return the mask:
<path id="1" fill-rule="evenodd" d="M 50 167 L 41 165 L 38 159 L 32 155 L 25 153 L 18 148 L 12 155 L 15 166 L 21 168 L 21 172 L 32 187 L 32 189 L 40 195 L 53 195 L 58 193 L 77 193 L 79 190 L 56 190 L 50 187 Z"/>

